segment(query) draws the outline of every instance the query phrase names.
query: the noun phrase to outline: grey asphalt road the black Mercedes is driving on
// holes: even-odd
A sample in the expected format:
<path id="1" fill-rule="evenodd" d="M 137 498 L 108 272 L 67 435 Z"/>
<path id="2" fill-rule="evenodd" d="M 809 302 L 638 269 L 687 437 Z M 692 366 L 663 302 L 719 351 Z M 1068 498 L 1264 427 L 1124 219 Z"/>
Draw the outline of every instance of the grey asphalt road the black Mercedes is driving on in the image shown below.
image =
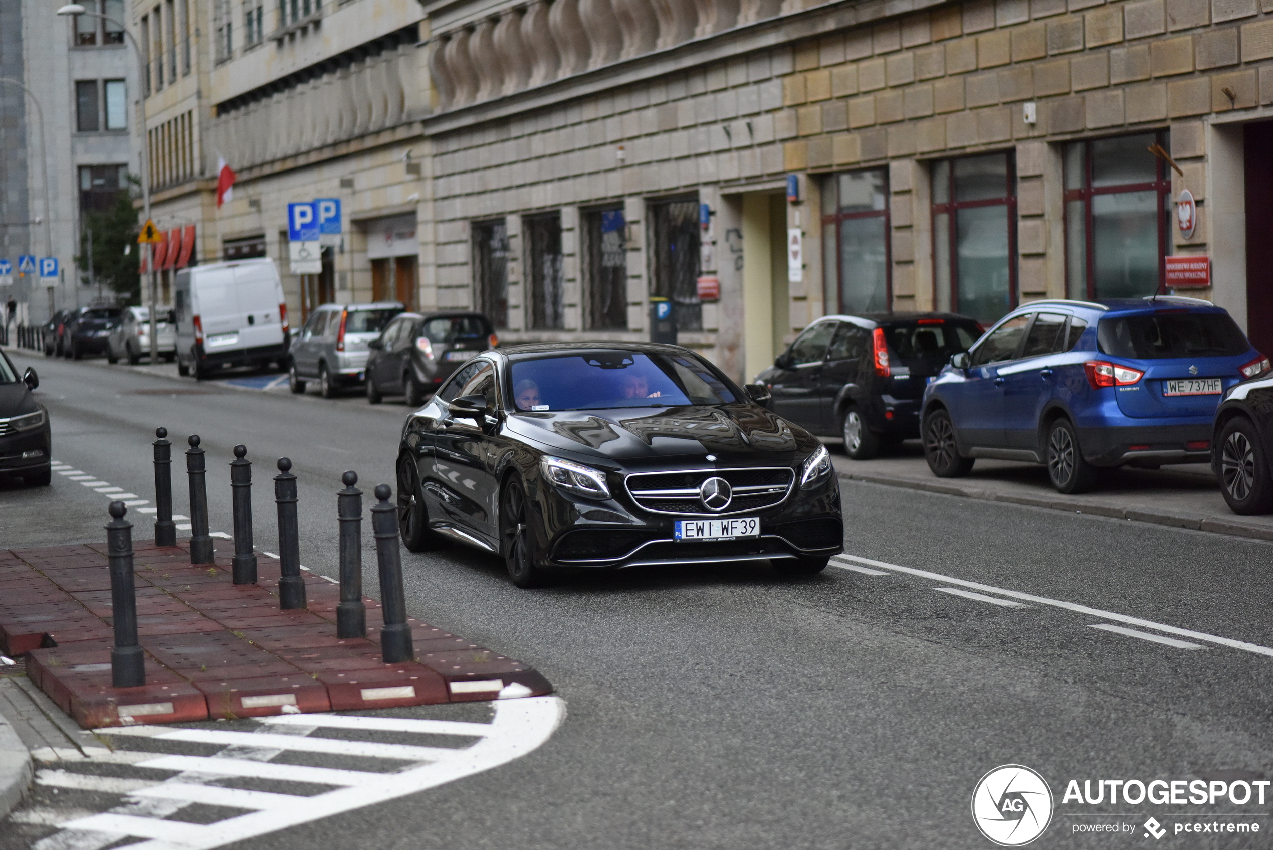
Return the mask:
<path id="1" fill-rule="evenodd" d="M 340 474 L 359 472 L 365 507 L 374 483 L 392 483 L 401 404 L 14 359 L 41 373 L 53 456 L 141 498 L 153 498 L 154 427 L 200 433 L 214 530 L 230 530 L 225 464 L 246 443 L 264 549 L 275 551 L 272 460 L 292 457 L 302 563 L 325 575 L 336 575 Z M 101 538 L 107 498 L 53 478 L 46 489 L 0 483 L 4 545 Z M 185 514 L 183 484 L 174 477 Z M 841 492 L 845 552 L 883 575 L 792 581 L 743 565 L 524 591 L 477 552 L 404 552 L 409 612 L 535 665 L 565 700 L 564 724 L 486 774 L 234 846 L 989 847 L 970 798 L 1006 763 L 1039 771 L 1055 794 L 1036 846 L 1144 844 L 1139 828 L 1074 833 L 1094 813 L 1169 826 L 1263 813 L 1248 818 L 1265 825 L 1259 836 L 1150 844 L 1273 846 L 1273 795 L 1259 807 L 1062 802 L 1069 779 L 1273 777 L 1273 656 L 1259 651 L 1273 647 L 1273 544 L 849 480 Z M 966 590 L 941 576 L 1044 601 L 936 591 Z M 370 571 L 365 581 L 374 591 Z M 1165 645 L 1143 637 L 1156 626 L 1086 609 L 1204 637 Z M 1091 628 L 1102 623 L 1141 636 Z"/>

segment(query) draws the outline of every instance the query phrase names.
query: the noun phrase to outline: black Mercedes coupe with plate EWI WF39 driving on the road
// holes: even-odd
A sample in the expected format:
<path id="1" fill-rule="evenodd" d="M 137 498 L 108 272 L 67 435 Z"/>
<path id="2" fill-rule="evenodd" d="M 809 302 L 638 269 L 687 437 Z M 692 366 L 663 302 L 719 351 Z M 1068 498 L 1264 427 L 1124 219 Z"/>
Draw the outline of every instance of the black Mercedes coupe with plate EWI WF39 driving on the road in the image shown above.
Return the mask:
<path id="1" fill-rule="evenodd" d="M 522 587 L 579 567 L 819 572 L 843 551 L 839 483 L 826 449 L 768 400 L 677 345 L 485 352 L 402 428 L 402 540 L 498 554 Z"/>

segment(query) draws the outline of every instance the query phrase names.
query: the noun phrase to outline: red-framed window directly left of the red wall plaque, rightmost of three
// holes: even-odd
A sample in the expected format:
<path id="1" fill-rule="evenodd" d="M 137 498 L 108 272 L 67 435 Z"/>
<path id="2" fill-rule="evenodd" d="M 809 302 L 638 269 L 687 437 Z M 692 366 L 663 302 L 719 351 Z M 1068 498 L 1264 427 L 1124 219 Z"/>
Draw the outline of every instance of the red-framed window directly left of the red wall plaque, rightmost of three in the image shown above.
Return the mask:
<path id="1" fill-rule="evenodd" d="M 1064 147 L 1066 293 L 1134 298 L 1162 289 L 1171 252 L 1171 175 L 1148 152 L 1167 131 Z"/>

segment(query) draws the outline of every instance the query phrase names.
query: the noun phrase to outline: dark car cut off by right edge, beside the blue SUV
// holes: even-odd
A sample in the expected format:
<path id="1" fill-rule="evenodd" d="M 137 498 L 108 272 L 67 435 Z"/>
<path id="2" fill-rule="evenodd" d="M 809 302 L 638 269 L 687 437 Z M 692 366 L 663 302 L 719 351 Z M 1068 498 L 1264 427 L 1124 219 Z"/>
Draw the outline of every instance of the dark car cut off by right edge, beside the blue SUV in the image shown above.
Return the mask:
<path id="1" fill-rule="evenodd" d="M 1273 375 L 1225 390 L 1212 428 L 1211 468 L 1235 514 L 1273 512 Z"/>

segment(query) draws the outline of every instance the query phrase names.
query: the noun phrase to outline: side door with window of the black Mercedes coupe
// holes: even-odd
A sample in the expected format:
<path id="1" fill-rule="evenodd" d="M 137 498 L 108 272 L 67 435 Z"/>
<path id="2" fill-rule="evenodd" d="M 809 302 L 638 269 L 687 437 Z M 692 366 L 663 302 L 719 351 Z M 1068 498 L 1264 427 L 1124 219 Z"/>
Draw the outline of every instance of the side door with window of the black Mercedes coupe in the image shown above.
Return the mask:
<path id="1" fill-rule="evenodd" d="M 494 366 L 488 359 L 465 366 L 448 384 L 449 389 L 454 389 L 454 394 L 448 394 L 449 398 L 442 404 L 480 393 L 488 398 L 488 410 L 494 413 L 496 409 L 494 376 Z M 498 549 L 495 482 L 486 466 L 486 428 L 485 419 L 482 422 L 457 419 L 444 413 L 434 438 L 434 482 L 444 517 L 467 534 Z"/>

